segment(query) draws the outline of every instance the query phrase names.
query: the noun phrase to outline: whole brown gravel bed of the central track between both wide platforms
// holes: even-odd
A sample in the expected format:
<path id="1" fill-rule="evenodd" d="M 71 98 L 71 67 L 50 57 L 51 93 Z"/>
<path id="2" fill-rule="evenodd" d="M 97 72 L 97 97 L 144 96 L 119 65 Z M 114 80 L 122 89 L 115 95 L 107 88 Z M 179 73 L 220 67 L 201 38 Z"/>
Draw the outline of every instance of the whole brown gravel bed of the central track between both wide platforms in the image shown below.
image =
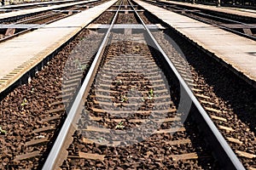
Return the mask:
<path id="1" fill-rule="evenodd" d="M 97 18 L 94 24 L 109 24 L 114 13 L 105 12 Z M 147 14 L 140 14 L 146 24 L 157 23 L 153 19 L 152 22 L 148 19 Z M 134 14 L 119 14 L 117 24 L 137 24 Z M 164 88 L 158 87 L 161 82 L 152 83 L 147 77 L 154 74 L 155 61 L 154 49 L 145 45 L 142 34 L 121 35 L 113 34 L 112 43 L 108 46 L 108 52 L 105 53 L 106 59 L 103 59 L 101 66 L 105 70 L 98 71 L 98 78 L 102 81 L 95 81 L 90 89 L 90 95 L 84 104 L 84 111 L 81 114 L 81 119 L 78 122 L 79 129 L 73 134 L 73 144 L 68 148 L 67 160 L 63 162 L 62 169 L 219 169 L 218 163 L 212 158 L 211 150 L 207 147 L 206 142 L 201 137 L 195 122 L 189 119 L 183 124 L 184 131 L 176 133 L 154 133 L 148 138 L 140 137 L 140 142 L 132 144 L 132 137 L 137 133 L 142 133 L 141 129 L 133 130 L 141 126 L 142 122 L 131 122 L 131 119 L 147 120 L 150 114 L 147 111 L 153 111 L 157 97 L 168 95 L 167 92 L 160 92 Z M 166 35 L 172 36 L 172 39 L 177 42 L 179 47 L 183 50 L 186 59 L 183 59 L 177 53 L 170 42 L 166 41 Z M 229 142 L 233 150 L 240 150 L 249 154 L 256 153 L 256 138 L 255 138 L 255 88 L 247 85 L 246 82 L 241 81 L 232 72 L 223 66 L 220 66 L 217 61 L 210 59 L 201 50 L 191 47 L 191 44 L 182 37 L 177 36 L 173 31 L 157 31 L 154 36 L 159 40 L 160 45 L 166 51 L 170 59 L 174 59 L 178 64 L 185 68 L 183 77 L 191 77 L 193 79 L 193 86 L 195 94 L 207 96 L 203 99 L 206 103 L 201 103 L 205 108 L 212 108 L 213 111 L 207 111 L 209 116 L 218 116 L 223 120 L 213 119 L 212 121 L 217 127 L 230 127 L 231 130 L 220 129 L 220 132 L 226 139 L 238 139 L 238 142 Z M 87 39 L 84 39 L 86 37 Z M 102 34 L 92 33 L 91 31 L 82 31 L 78 37 L 63 48 L 53 59 L 44 66 L 42 71 L 38 71 L 32 80 L 24 85 L 15 88 L 9 95 L 0 101 L 0 169 L 36 169 L 40 168 L 44 162 L 44 155 L 49 151 L 49 142 L 33 146 L 27 146 L 26 143 L 32 139 L 47 138 L 49 141 L 55 137 L 55 132 L 49 133 L 33 133 L 34 130 L 41 127 L 56 127 L 61 126 L 61 120 L 44 122 L 45 117 L 59 115 L 62 118 L 66 116 L 65 111 L 60 111 L 57 114 L 49 114 L 47 111 L 60 108 L 61 105 L 51 105 L 58 96 L 63 95 L 61 86 L 67 85 L 65 81 L 72 79 L 73 71 L 79 71 L 81 75 L 85 75 L 88 71 L 91 58 L 96 52 L 96 47 L 99 45 Z M 84 47 L 85 40 L 88 42 L 85 46 L 91 48 L 93 52 L 76 50 L 76 47 Z M 91 41 L 91 42 L 90 42 Z M 93 45 L 92 45 L 93 44 Z M 81 48 L 78 48 L 81 49 Z M 74 50 L 74 52 L 72 52 Z M 151 53 L 150 53 L 151 52 Z M 152 53 L 153 52 L 153 53 Z M 157 54 L 157 53 L 156 53 Z M 68 56 L 72 55 L 72 58 Z M 118 56 L 121 59 L 113 59 Z M 132 56 L 132 57 L 127 57 Z M 120 71 L 124 65 L 131 70 L 134 69 L 137 63 L 137 56 L 146 56 L 139 60 L 142 63 L 147 63 L 143 69 L 146 70 L 146 76 L 136 71 Z M 153 64 L 148 64 L 148 60 Z M 66 63 L 67 62 L 67 63 Z M 128 64 L 127 64 L 128 63 Z M 66 65 L 65 65 L 66 64 Z M 130 67 L 129 67 L 130 66 Z M 67 68 L 68 67 L 68 68 Z M 137 67 L 136 67 L 137 68 Z M 65 69 L 67 69 L 65 71 Z M 137 70 L 140 70 L 138 67 Z M 63 71 L 65 72 L 63 75 Z M 159 71 L 160 72 L 160 71 Z M 190 75 L 191 73 L 191 75 Z M 150 76 L 149 76 L 150 75 Z M 161 75 L 160 75 L 161 76 Z M 162 76 L 161 76 L 162 77 Z M 139 82 L 143 80 L 143 82 Z M 158 80 L 153 79 L 153 82 Z M 63 82 L 64 81 L 64 82 Z M 81 80 L 82 82 L 83 80 Z M 104 84 L 111 84 L 104 88 Z M 100 90 L 99 90 L 100 89 Z M 135 90 L 136 89 L 136 90 Z M 63 90 L 63 86 L 62 86 Z M 68 93 L 70 90 L 66 88 Z M 141 94 L 137 94 L 137 91 Z M 110 93 L 109 93 L 110 92 Z M 109 94 L 108 94 L 109 93 Z M 108 99 L 96 98 L 96 94 L 102 96 L 109 95 L 111 102 Z M 64 93 L 65 95 L 65 93 Z M 170 95 L 170 94 L 169 94 Z M 173 95 L 173 94 L 172 94 Z M 135 96 L 135 100 L 130 98 Z M 201 98 L 199 97 L 199 100 Z M 167 117 L 172 118 L 177 115 L 176 102 L 170 99 L 159 100 L 162 103 L 170 101 L 171 103 L 159 107 L 162 110 L 168 110 L 170 107 L 172 111 L 168 110 Z M 102 102 L 103 104 L 99 104 Z M 108 105 L 114 104 L 114 105 Z M 143 113 L 135 113 L 131 115 L 120 115 L 124 111 L 130 111 L 127 105 L 142 103 L 143 106 L 139 111 Z M 69 103 L 65 104 L 70 105 Z M 105 106 L 102 106 L 105 105 Z M 107 105 L 107 106 L 106 106 Z M 158 104 L 156 104 L 158 105 Z M 126 108 L 127 107 L 127 108 Z M 117 115 L 108 114 L 105 112 L 95 111 L 94 109 L 104 109 L 116 111 Z M 123 119 L 122 116 L 128 116 Z M 96 119 L 90 122 L 90 118 Z M 156 116 L 158 117 L 158 116 Z M 158 118 L 161 118 L 158 117 Z M 117 121 L 118 120 L 118 121 Z M 121 120 L 121 121 L 120 121 Z M 121 123 L 120 123 L 121 122 Z M 119 129 L 119 134 L 124 136 L 115 136 L 115 133 L 106 134 L 104 132 L 90 132 L 84 131 L 89 126 L 96 127 L 101 125 L 110 130 L 116 131 Z M 152 122 L 151 128 L 158 124 Z M 177 122 L 163 122 L 158 130 L 167 130 L 173 126 L 181 126 Z M 150 128 L 149 128 L 150 129 Z M 128 135 L 125 136 L 125 130 L 131 130 L 131 139 Z M 122 132 L 124 131 L 124 132 Z M 84 139 L 88 137 L 95 139 L 97 142 L 88 142 Z M 188 144 L 169 144 L 170 141 L 179 139 L 189 139 Z M 119 144 L 114 144 L 114 141 L 120 141 Z M 107 142 L 107 143 L 106 143 Z M 112 143 L 111 143 L 112 142 Z M 106 144 L 104 144 L 106 143 Z M 127 146 L 127 144 L 130 144 Z M 36 156 L 27 160 L 15 160 L 17 156 L 22 154 L 40 151 L 43 156 Z M 103 160 L 84 159 L 79 157 L 80 152 L 90 154 L 105 155 Z M 196 159 L 178 161 L 173 158 L 173 155 L 181 155 L 195 152 L 198 156 Z M 238 154 L 239 159 L 247 168 L 256 168 L 256 157 L 248 158 Z"/>

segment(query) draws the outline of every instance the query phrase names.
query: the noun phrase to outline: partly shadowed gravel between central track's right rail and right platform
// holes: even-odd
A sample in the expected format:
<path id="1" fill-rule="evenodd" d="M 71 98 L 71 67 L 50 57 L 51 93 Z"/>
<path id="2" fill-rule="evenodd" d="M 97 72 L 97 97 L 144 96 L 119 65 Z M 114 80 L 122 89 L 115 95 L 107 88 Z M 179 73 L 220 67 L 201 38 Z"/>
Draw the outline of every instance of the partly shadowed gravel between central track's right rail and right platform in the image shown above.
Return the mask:
<path id="1" fill-rule="evenodd" d="M 238 143 L 228 140 L 231 148 L 255 154 L 255 89 L 241 81 L 227 68 L 218 64 L 217 61 L 207 57 L 198 48 L 192 47 L 189 42 L 178 37 L 173 31 L 154 33 L 160 45 L 165 49 L 173 48 L 173 46 L 166 47 L 166 35 L 172 36 L 186 56 L 184 62 L 188 63 L 191 78 L 196 84 L 193 88 L 201 90 L 201 92 L 194 91 L 194 93 L 208 96 L 207 99 L 202 99 L 208 103 L 201 103 L 201 105 L 204 108 L 217 110 L 207 111 L 209 116 L 224 118 L 224 120 L 212 119 L 212 121 L 218 128 L 224 126 L 231 127 L 234 130 L 230 132 L 229 130 L 220 129 L 225 139 L 239 140 Z M 166 54 L 170 53 L 166 50 Z M 176 58 L 183 59 L 181 56 L 176 56 Z M 200 97 L 199 100 L 201 100 Z M 245 167 L 256 167 L 256 157 L 248 158 L 239 154 L 237 156 Z"/>

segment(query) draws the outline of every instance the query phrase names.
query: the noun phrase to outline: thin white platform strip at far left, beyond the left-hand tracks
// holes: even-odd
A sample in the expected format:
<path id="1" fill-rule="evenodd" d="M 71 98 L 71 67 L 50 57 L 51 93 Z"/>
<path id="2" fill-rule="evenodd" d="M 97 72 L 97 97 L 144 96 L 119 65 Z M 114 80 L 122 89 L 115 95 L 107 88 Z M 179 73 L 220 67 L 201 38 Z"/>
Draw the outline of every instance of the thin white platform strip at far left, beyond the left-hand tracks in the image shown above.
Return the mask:
<path id="1" fill-rule="evenodd" d="M 38 13 L 38 12 L 54 10 L 56 8 L 66 8 L 66 7 L 69 7 L 69 6 L 72 6 L 72 5 L 80 5 L 80 4 L 84 4 L 84 3 L 93 3 L 93 2 L 96 2 L 96 1 L 98 1 L 98 0 L 80 1 L 80 2 L 77 2 L 77 3 L 65 3 L 65 4 L 61 4 L 61 5 L 53 5 L 53 6 L 50 6 L 50 7 L 28 8 L 28 9 L 23 9 L 23 10 L 20 10 L 20 11 L 0 14 L 0 20 L 7 20 L 11 17 L 18 17 L 18 16 L 26 15 L 26 14 L 35 14 L 35 13 Z"/>

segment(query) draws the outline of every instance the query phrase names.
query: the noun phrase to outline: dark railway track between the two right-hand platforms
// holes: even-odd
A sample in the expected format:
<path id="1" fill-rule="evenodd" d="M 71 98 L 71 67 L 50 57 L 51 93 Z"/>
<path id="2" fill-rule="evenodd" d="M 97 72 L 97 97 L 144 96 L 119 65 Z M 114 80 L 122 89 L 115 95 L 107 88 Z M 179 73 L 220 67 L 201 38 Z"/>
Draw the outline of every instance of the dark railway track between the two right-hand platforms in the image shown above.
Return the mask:
<path id="1" fill-rule="evenodd" d="M 218 26 L 225 31 L 230 31 L 240 35 L 242 37 L 247 37 L 252 40 L 256 40 L 255 19 L 248 19 L 241 16 L 233 16 L 227 14 L 221 14 L 217 12 L 212 12 L 210 10 L 202 10 L 200 8 L 191 8 L 183 5 L 173 5 L 172 3 L 166 3 L 161 1 L 146 1 L 148 3 L 157 5 L 162 8 L 166 8 L 177 14 L 183 14 L 189 18 L 199 20 L 201 22 Z"/>

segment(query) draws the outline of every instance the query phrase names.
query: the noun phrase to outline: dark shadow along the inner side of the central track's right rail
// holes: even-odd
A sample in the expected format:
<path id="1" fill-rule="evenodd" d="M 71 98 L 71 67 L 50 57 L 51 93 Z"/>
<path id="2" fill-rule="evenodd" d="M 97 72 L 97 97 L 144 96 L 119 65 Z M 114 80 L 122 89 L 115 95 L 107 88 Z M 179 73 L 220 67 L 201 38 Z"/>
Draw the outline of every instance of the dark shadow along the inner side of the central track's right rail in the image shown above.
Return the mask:
<path id="1" fill-rule="evenodd" d="M 154 48 L 149 47 L 149 49 L 153 56 L 161 56 L 160 52 L 154 50 Z M 181 87 L 177 77 L 171 71 L 171 68 L 166 64 L 163 57 L 157 57 L 154 59 L 157 65 L 165 73 L 166 79 L 168 80 L 170 86 L 170 93 L 173 103 L 177 108 L 182 107 L 183 102 L 180 101 Z M 194 114 L 193 111 L 194 110 L 191 108 L 189 111 L 189 116 L 186 118 L 186 121 L 183 122 L 183 127 L 186 129 L 186 133 L 192 143 L 192 147 L 195 148 L 195 152 L 198 156 L 198 165 L 200 165 L 202 169 L 219 169 L 218 161 L 212 156 L 212 149 L 210 148 L 211 145 L 205 141 L 206 136 L 199 132 L 199 125 L 191 119 L 191 116 Z M 173 135 L 175 135 L 175 133 L 173 133 Z"/>

